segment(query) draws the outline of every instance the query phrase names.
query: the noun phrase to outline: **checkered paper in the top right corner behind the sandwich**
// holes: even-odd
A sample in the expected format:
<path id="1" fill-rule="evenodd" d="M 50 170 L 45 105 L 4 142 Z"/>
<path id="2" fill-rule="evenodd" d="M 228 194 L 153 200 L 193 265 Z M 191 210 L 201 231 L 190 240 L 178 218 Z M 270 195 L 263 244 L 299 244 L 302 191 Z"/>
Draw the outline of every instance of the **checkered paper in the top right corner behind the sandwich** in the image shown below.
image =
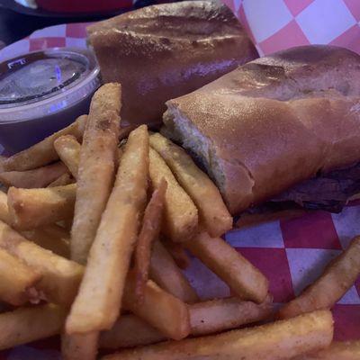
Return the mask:
<path id="1" fill-rule="evenodd" d="M 360 53 L 359 0 L 223 0 L 261 56 L 293 46 L 331 44 Z"/>

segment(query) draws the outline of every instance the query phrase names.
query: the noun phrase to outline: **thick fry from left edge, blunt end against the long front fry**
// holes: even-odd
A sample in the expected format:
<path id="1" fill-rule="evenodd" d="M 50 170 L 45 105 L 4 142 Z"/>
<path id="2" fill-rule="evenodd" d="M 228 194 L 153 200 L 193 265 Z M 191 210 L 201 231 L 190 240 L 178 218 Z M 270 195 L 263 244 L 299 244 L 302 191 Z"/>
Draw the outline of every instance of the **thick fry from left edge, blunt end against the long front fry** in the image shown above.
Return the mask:
<path id="1" fill-rule="evenodd" d="M 66 306 L 73 302 L 84 273 L 83 266 L 39 247 L 3 221 L 0 221 L 0 248 L 23 260 L 42 276 L 37 288 L 50 302 Z"/>

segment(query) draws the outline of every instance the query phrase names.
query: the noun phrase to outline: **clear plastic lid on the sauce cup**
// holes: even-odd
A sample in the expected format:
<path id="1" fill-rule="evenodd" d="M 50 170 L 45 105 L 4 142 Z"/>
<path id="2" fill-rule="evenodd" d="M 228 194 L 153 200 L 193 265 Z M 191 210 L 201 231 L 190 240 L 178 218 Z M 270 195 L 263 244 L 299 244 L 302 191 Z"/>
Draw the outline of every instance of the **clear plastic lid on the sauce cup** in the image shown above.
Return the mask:
<path id="1" fill-rule="evenodd" d="M 60 112 L 99 85 L 99 67 L 87 49 L 46 49 L 6 60 L 0 64 L 0 122 Z"/>

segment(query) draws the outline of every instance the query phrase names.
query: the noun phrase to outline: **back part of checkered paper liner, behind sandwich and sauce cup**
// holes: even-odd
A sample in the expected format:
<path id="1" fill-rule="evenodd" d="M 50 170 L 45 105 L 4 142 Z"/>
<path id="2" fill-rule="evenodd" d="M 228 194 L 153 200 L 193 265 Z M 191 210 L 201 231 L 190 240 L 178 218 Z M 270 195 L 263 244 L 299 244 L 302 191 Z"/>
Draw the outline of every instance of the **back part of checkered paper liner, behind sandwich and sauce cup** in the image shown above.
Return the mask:
<path id="1" fill-rule="evenodd" d="M 223 0 L 236 14 L 260 55 L 308 44 L 331 44 L 360 53 L 359 0 Z M 85 46 L 87 23 L 35 31 L 0 51 L 0 61 L 24 51 Z"/>

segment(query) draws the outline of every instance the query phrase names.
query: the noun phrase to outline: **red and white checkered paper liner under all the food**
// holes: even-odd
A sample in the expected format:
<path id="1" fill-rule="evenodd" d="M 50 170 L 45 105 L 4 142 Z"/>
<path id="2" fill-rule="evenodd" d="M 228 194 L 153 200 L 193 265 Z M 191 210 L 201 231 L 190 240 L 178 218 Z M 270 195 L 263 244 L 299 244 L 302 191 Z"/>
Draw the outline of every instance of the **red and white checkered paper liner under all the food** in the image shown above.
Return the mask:
<path id="1" fill-rule="evenodd" d="M 357 0 L 234 0 L 230 7 L 249 32 L 251 29 L 262 53 L 310 42 L 336 43 L 360 51 Z M 316 21 L 315 14 L 319 16 Z M 346 20 L 342 25 L 341 19 Z M 1 50 L 0 61 L 29 50 L 85 47 L 85 27 L 86 23 L 73 23 L 35 31 Z M 270 281 L 275 302 L 281 303 L 293 299 L 311 284 L 357 234 L 360 234 L 360 205 L 349 206 L 340 214 L 317 211 L 295 220 L 234 229 L 225 238 L 263 271 Z M 202 299 L 229 296 L 228 286 L 197 259 L 193 258 L 185 274 Z M 338 302 L 333 314 L 336 339 L 360 338 L 360 278 Z M 15 347 L 0 352 L 0 360 L 58 360 L 58 344 L 58 338 L 51 338 Z"/>

